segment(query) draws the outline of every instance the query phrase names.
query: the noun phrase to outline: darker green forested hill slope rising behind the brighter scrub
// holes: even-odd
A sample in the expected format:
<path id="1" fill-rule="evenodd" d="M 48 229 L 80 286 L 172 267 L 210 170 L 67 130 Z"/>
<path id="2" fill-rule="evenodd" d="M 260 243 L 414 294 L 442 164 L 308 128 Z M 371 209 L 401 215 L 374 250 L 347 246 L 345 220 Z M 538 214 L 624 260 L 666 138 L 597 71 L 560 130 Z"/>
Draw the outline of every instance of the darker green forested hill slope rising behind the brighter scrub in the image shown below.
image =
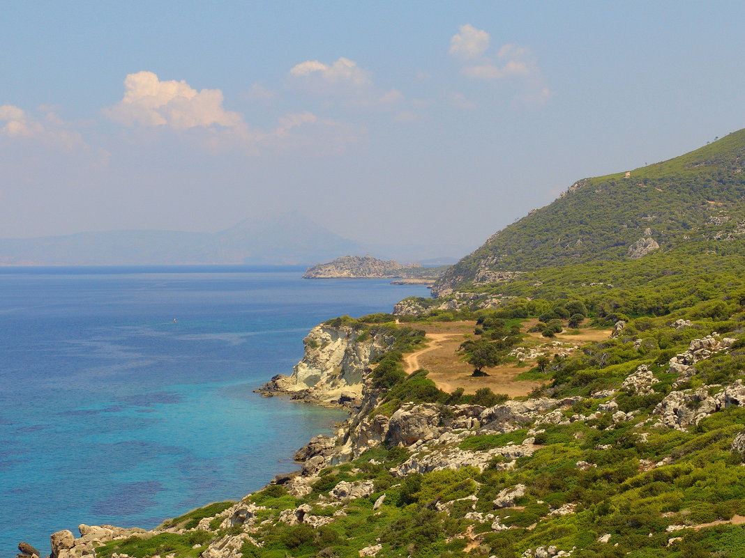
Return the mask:
<path id="1" fill-rule="evenodd" d="M 648 257 L 745 234 L 745 130 L 680 157 L 575 183 L 460 260 L 436 292 L 487 283 L 494 272 L 526 272 L 595 260 Z M 650 239 L 645 241 L 645 239 Z M 653 243 L 651 242 L 653 241 Z M 739 243 L 739 242 L 738 242 Z M 659 248 L 656 248 L 659 246 Z"/>

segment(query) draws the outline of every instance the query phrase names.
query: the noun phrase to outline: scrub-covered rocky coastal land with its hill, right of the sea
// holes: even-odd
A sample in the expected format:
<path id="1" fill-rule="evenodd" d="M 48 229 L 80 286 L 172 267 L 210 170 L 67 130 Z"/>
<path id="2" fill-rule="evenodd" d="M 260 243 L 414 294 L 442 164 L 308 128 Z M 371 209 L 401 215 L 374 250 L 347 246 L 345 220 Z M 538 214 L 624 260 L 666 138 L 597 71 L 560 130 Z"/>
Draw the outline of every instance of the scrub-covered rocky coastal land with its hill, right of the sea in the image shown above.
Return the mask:
<path id="1" fill-rule="evenodd" d="M 263 388 L 349 409 L 297 471 L 52 557 L 745 556 L 744 167 L 741 130 L 580 180 L 434 298 L 329 317 Z"/>

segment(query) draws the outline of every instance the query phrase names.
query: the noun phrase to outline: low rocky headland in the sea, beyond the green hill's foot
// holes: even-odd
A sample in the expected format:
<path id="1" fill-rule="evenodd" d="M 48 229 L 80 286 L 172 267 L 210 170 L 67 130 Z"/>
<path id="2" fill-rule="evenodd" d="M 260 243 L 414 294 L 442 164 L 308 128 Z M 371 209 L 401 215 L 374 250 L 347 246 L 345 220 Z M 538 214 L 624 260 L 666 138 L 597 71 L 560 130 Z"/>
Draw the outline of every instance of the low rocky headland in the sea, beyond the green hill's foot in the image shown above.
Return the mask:
<path id="1" fill-rule="evenodd" d="M 430 283 L 440 278 L 448 266 L 423 267 L 419 263 L 401 264 L 396 260 L 378 260 L 366 256 L 342 256 L 319 263 L 302 275 L 304 279 L 401 279 L 402 282 Z"/>

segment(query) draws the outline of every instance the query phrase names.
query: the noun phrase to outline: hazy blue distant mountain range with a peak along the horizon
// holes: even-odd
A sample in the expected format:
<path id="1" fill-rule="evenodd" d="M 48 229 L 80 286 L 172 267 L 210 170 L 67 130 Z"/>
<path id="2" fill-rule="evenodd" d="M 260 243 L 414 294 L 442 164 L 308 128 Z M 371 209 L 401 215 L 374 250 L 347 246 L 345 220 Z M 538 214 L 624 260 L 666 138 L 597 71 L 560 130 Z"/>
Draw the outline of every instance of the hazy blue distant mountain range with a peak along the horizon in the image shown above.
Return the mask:
<path id="1" fill-rule="evenodd" d="M 0 239 L 0 265 L 311 265 L 352 254 L 401 261 L 451 260 L 462 246 L 387 246 L 340 237 L 305 215 L 244 219 L 215 233 L 101 231 L 60 237 Z"/>

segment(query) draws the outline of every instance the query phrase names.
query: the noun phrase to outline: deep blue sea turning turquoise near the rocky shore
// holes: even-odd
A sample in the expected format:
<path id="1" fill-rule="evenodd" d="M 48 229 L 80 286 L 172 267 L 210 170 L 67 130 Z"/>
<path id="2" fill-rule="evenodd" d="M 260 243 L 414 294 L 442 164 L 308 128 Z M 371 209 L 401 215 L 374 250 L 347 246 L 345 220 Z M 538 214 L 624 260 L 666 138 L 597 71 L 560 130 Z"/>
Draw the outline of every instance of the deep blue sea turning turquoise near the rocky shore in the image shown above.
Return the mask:
<path id="1" fill-rule="evenodd" d="M 422 286 L 240 266 L 0 268 L 0 556 L 238 499 L 346 414 L 264 398 L 302 338 Z M 175 322 L 174 322 L 175 319 Z"/>

